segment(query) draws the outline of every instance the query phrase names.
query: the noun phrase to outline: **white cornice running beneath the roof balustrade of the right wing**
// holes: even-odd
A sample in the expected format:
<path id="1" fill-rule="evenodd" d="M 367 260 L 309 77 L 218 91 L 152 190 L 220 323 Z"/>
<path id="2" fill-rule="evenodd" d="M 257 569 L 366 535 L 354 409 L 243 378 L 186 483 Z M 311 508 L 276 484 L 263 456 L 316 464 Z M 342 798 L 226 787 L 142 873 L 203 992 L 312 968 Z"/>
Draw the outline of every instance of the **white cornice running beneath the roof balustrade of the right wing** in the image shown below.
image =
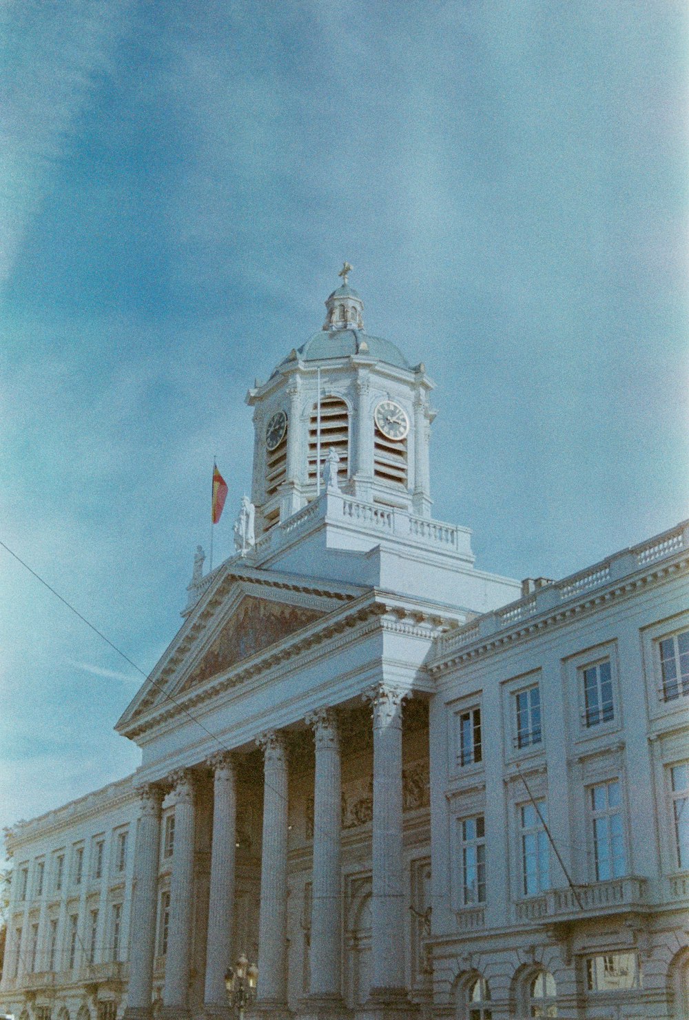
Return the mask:
<path id="1" fill-rule="evenodd" d="M 685 572 L 688 568 L 689 555 L 685 552 L 681 558 L 673 562 L 655 564 L 652 568 L 642 573 L 636 573 L 605 588 L 587 592 L 580 599 L 565 603 L 555 609 L 543 612 L 541 615 L 531 616 L 527 622 L 520 621 L 511 627 L 508 626 L 501 630 L 493 631 L 490 634 L 486 634 L 483 639 L 480 636 L 480 621 L 484 617 L 479 616 L 467 624 L 467 632 L 473 634 L 474 631 L 477 631 L 476 638 L 457 649 L 450 648 L 447 651 L 439 651 L 435 659 L 428 664 L 428 671 L 431 676 L 441 675 L 456 666 L 465 665 L 467 662 L 500 652 L 510 645 L 531 639 L 536 633 L 542 633 L 553 627 L 562 626 L 577 616 L 594 612 L 601 606 L 619 602 L 644 588 L 654 586 L 675 574 Z M 449 642 L 459 640 L 459 634 L 457 639 L 453 635 L 449 638 Z"/>

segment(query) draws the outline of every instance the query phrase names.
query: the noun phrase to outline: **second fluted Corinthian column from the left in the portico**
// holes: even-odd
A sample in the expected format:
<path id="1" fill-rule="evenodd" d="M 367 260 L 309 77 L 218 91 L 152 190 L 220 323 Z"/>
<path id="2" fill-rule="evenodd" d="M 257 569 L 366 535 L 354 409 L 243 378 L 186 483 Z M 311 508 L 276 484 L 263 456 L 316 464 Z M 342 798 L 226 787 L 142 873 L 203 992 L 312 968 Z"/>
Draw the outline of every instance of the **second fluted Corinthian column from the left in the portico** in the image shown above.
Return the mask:
<path id="1" fill-rule="evenodd" d="M 189 1016 L 194 898 L 194 779 L 189 769 L 171 777 L 175 793 L 174 852 L 170 876 L 170 923 L 165 960 L 163 1007 L 169 1020 Z"/>

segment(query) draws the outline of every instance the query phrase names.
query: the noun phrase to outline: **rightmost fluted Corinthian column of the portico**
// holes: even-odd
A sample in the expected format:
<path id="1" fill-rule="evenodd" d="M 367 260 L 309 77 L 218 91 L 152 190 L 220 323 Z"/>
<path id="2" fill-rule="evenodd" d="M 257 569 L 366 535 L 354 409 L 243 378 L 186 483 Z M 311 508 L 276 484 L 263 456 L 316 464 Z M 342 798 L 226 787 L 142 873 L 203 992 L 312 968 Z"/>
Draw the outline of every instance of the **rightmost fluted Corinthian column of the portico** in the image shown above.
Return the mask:
<path id="1" fill-rule="evenodd" d="M 371 998 L 405 999 L 405 896 L 402 842 L 402 703 L 380 684 L 373 707 L 373 980 Z"/>

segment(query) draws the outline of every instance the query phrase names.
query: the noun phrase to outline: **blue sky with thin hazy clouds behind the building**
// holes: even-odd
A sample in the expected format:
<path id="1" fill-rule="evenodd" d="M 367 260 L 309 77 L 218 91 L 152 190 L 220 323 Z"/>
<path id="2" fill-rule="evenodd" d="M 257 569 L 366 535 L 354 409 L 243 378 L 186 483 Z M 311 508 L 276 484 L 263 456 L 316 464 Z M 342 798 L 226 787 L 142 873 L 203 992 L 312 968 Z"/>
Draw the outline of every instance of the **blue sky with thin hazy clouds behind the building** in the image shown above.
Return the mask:
<path id="1" fill-rule="evenodd" d="M 687 514 L 687 10 L 9 0 L 0 539 L 145 670 L 323 319 L 437 384 L 434 512 L 563 576 Z M 136 767 L 138 674 L 0 550 L 0 823 Z"/>

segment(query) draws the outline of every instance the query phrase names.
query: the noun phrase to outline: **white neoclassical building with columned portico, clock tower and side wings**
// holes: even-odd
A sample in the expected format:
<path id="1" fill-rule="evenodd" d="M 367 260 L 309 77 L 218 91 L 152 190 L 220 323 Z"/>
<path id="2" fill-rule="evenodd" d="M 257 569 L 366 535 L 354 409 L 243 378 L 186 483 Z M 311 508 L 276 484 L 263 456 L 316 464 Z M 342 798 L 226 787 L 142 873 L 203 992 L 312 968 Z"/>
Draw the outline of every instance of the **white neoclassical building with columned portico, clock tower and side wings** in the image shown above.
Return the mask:
<path id="1" fill-rule="evenodd" d="M 346 271 L 326 307 L 248 395 L 240 552 L 117 723 L 141 768 L 8 835 L 0 1007 L 221 1014 L 245 951 L 276 1020 L 689 1016 L 689 525 L 477 570 L 424 366 Z"/>

